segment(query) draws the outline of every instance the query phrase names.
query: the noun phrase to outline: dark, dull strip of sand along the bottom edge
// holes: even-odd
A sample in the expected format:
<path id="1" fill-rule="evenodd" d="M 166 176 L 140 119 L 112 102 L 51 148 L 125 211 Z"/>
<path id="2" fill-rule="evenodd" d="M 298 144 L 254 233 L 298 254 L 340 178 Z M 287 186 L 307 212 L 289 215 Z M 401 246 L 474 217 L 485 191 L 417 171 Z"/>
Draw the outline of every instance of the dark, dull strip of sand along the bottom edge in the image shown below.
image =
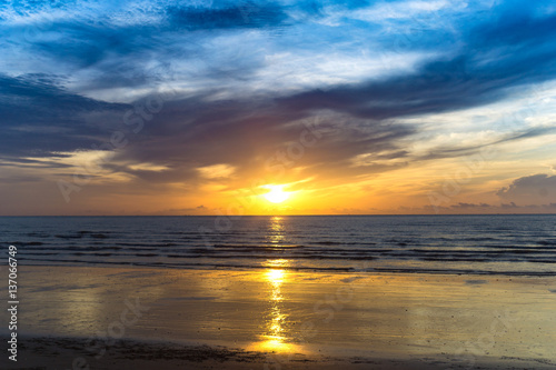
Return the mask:
<path id="1" fill-rule="evenodd" d="M 449 370 L 449 369 L 554 369 L 555 363 L 533 358 L 477 357 L 473 362 L 449 356 L 351 356 L 334 357 L 302 353 L 246 351 L 241 348 L 182 344 L 165 341 L 116 340 L 106 353 L 96 356 L 87 350 L 89 339 L 70 337 L 24 337 L 18 362 L 7 369 L 368 369 Z M 24 366 L 23 366 L 24 363 Z"/>

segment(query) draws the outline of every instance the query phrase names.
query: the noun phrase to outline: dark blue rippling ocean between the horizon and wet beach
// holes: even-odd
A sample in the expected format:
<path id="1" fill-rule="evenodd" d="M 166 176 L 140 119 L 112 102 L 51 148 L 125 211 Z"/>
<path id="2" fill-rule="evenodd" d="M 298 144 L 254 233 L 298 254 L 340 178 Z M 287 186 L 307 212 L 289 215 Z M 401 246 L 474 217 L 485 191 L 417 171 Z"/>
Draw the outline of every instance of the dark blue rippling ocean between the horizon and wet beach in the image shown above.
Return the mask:
<path id="1" fill-rule="evenodd" d="M 556 276 L 556 216 L 1 217 L 20 264 Z"/>

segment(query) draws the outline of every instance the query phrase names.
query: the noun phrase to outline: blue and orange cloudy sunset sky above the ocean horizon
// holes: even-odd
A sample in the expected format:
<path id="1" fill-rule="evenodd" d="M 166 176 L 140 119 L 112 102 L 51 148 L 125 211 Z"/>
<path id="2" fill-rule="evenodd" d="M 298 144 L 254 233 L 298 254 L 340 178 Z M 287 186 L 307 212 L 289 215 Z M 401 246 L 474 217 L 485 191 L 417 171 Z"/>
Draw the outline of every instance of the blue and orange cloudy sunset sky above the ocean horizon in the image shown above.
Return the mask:
<path id="1" fill-rule="evenodd" d="M 3 216 L 556 212 L 554 1 L 8 1 L 0 50 Z"/>

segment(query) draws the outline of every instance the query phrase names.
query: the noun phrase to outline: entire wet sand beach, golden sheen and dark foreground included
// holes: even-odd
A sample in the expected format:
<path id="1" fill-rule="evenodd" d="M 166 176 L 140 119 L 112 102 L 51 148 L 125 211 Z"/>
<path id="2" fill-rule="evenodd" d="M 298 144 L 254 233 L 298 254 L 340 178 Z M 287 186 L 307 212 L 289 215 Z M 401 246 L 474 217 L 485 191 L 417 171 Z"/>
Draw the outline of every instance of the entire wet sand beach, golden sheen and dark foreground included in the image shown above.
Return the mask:
<path id="1" fill-rule="evenodd" d="M 10 369 L 556 366 L 553 278 L 24 266 L 19 280 Z"/>

